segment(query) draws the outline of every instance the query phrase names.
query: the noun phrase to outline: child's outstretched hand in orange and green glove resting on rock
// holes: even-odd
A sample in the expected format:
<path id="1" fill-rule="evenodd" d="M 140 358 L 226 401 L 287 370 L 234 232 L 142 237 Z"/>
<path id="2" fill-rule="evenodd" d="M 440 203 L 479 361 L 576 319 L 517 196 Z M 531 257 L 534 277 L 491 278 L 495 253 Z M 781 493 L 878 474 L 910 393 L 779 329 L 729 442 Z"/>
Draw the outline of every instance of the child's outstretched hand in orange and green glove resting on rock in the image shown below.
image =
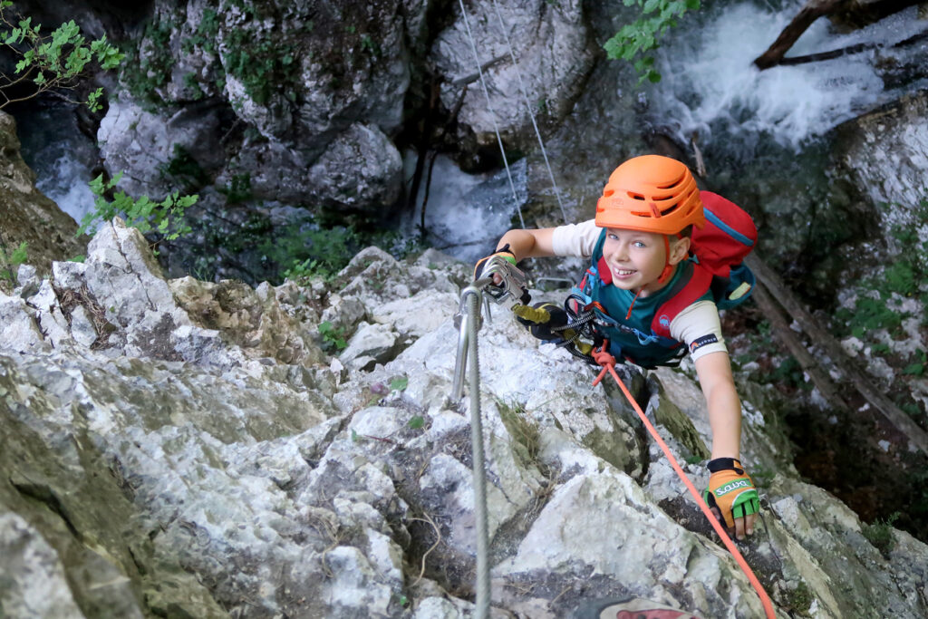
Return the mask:
<path id="1" fill-rule="evenodd" d="M 709 471 L 712 475 L 704 498 L 715 517 L 725 523 L 729 533 L 733 529 L 738 539 L 752 535 L 760 499 L 751 476 L 736 458 L 715 458 L 709 462 Z"/>

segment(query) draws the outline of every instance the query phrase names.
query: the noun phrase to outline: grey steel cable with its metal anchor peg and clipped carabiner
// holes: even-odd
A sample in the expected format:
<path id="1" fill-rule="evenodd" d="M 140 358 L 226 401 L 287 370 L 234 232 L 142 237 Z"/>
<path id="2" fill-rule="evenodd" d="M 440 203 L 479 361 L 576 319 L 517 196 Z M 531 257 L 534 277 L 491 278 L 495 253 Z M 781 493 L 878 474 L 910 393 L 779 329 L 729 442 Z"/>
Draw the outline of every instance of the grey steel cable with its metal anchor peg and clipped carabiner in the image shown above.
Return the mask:
<path id="1" fill-rule="evenodd" d="M 511 309 L 515 303 L 529 303 L 531 297 L 525 288 L 525 275 L 502 256 L 491 258 L 484 265 L 482 275 L 484 277 L 472 282 L 461 292 L 458 314 L 455 315 L 455 326 L 458 327 L 458 357 L 455 362 L 453 396 L 455 400 L 459 400 L 463 395 L 464 378 L 469 370 L 474 529 L 477 533 L 477 600 L 473 616 L 486 619 L 490 616 L 490 535 L 487 528 L 483 421 L 480 412 L 480 361 L 477 356 L 477 331 L 482 326 L 480 307 L 483 302 L 489 320 L 490 299 Z M 499 284 L 493 283 L 495 275 L 500 277 Z"/>

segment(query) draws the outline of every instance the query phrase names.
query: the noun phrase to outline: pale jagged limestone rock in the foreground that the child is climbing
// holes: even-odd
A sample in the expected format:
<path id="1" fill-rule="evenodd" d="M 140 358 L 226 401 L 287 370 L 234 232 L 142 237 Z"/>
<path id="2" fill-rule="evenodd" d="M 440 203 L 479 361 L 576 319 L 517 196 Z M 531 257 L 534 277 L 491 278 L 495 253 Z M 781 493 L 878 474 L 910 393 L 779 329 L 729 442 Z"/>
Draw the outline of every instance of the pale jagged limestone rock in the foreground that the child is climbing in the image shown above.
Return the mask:
<path id="1" fill-rule="evenodd" d="M 470 397 L 450 393 L 468 277 L 369 248 L 337 285 L 166 280 L 119 220 L 84 264 L 24 270 L 0 296 L 5 616 L 468 616 Z M 762 613 L 614 388 L 498 311 L 479 356 L 495 616 Z M 686 371 L 620 369 L 702 487 Z M 767 526 L 741 548 L 780 613 L 925 614 L 928 547 L 890 529 L 874 548 L 783 464 L 748 392 Z"/>

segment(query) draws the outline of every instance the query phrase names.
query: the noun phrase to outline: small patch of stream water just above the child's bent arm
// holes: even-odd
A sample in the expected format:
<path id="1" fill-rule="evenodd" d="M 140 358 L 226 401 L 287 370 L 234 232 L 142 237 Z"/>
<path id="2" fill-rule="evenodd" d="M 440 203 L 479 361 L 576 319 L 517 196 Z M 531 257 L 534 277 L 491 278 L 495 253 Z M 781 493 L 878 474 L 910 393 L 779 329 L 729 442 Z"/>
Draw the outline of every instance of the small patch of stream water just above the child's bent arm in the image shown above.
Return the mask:
<path id="1" fill-rule="evenodd" d="M 411 178 L 415 156 L 406 158 L 406 178 Z M 425 207 L 427 241 L 432 247 L 465 262 L 476 262 L 493 251 L 494 243 L 511 227 L 518 209 L 528 200 L 525 188 L 525 160 L 510 166 L 516 199 L 506 171 L 489 174 L 466 174 L 458 165 L 439 155 L 432 170 L 429 201 Z M 425 174 L 416 210 L 404 221 L 406 234 L 418 234 Z"/>

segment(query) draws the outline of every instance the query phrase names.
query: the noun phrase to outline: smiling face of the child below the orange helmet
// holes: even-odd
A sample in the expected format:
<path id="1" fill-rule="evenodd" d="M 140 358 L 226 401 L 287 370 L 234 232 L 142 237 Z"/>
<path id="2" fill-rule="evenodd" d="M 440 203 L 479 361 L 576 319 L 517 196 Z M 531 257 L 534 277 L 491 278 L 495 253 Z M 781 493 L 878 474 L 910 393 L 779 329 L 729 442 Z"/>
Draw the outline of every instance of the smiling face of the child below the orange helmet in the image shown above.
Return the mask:
<path id="1" fill-rule="evenodd" d="M 612 271 L 612 286 L 623 290 L 640 289 L 641 296 L 664 288 L 658 279 L 667 264 L 675 265 L 687 256 L 690 239 L 669 239 L 670 256 L 664 250 L 664 235 L 623 228 L 607 228 L 602 256 Z"/>

